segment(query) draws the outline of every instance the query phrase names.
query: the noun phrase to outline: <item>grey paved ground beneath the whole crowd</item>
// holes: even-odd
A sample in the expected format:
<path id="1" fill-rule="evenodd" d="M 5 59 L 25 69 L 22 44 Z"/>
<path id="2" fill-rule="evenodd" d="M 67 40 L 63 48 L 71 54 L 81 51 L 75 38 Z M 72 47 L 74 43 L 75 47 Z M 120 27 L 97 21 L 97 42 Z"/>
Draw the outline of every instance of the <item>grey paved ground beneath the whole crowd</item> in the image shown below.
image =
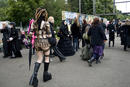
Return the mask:
<path id="1" fill-rule="evenodd" d="M 39 87 L 130 87 L 130 49 L 124 52 L 119 38 L 116 38 L 115 47 L 106 45 L 102 63 L 93 64 L 93 67 L 81 60 L 80 52 L 63 63 L 53 58 L 49 69 L 53 79 L 46 83 L 42 81 L 42 64 L 38 73 Z M 28 82 L 36 56 L 29 71 L 28 49 L 22 50 L 22 54 L 23 58 L 3 59 L 0 53 L 0 87 L 30 87 Z"/>

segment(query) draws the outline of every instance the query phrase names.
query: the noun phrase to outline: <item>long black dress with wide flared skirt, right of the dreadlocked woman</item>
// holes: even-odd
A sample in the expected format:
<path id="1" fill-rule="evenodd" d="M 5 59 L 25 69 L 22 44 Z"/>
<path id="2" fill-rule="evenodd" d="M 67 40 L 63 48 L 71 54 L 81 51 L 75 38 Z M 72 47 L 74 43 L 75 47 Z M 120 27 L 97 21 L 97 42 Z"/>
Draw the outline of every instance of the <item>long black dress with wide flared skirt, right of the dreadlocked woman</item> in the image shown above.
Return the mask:
<path id="1" fill-rule="evenodd" d="M 72 56 L 75 54 L 74 49 L 72 47 L 72 41 L 68 32 L 67 25 L 62 24 L 60 27 L 60 31 L 58 33 L 58 37 L 60 37 L 60 40 L 57 44 L 57 47 L 59 48 L 59 51 L 64 56 Z"/>

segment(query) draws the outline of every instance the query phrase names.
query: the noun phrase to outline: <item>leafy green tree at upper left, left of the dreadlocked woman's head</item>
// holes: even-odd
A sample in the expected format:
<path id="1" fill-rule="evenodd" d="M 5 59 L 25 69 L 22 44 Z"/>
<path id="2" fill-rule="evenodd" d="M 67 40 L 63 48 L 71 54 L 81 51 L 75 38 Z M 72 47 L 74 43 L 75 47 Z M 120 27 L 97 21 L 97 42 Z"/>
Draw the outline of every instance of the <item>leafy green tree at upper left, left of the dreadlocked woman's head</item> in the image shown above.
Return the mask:
<path id="1" fill-rule="evenodd" d="M 22 22 L 23 26 L 26 26 L 29 19 L 34 18 L 35 9 L 39 2 L 37 0 L 9 0 L 8 4 L 8 20 L 16 22 L 17 25 Z"/>

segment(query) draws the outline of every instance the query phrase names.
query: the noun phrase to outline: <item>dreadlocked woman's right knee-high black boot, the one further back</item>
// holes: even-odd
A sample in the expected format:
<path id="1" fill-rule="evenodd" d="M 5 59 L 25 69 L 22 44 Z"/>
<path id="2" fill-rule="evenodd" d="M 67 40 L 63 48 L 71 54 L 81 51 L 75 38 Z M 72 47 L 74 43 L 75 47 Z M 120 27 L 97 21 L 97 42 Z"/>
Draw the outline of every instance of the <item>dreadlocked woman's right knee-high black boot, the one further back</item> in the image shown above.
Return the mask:
<path id="1" fill-rule="evenodd" d="M 43 81 L 46 82 L 52 79 L 51 73 L 48 72 L 49 63 L 44 62 Z"/>

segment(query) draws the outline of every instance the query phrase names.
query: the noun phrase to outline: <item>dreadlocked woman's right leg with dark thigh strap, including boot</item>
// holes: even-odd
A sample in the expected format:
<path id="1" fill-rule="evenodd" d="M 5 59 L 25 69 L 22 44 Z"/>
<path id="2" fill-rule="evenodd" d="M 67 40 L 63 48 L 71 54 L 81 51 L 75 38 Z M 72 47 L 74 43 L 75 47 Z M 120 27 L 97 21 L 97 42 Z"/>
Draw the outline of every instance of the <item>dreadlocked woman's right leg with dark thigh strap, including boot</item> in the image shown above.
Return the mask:
<path id="1" fill-rule="evenodd" d="M 46 82 L 52 79 L 51 73 L 48 73 L 49 63 L 50 63 L 50 50 L 44 52 L 45 62 L 44 62 L 44 72 L 43 72 L 43 81 Z"/>

